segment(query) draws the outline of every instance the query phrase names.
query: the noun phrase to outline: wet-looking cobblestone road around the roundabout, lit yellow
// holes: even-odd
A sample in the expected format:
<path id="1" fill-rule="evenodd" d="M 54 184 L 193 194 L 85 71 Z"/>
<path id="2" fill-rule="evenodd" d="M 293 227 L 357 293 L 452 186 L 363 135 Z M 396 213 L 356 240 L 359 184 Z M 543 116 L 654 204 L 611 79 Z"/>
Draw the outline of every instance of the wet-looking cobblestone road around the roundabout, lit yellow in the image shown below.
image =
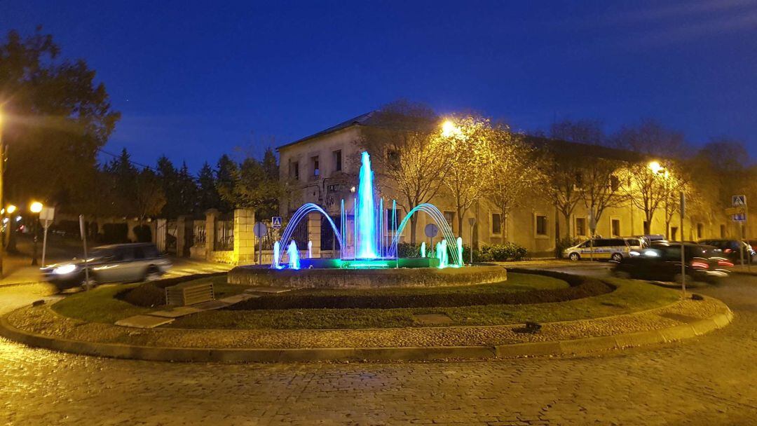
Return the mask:
<path id="1" fill-rule="evenodd" d="M 700 291 L 731 326 L 580 358 L 172 364 L 0 339 L 0 424 L 757 424 L 757 278 Z M 0 288 L 0 310 L 44 293 Z"/>

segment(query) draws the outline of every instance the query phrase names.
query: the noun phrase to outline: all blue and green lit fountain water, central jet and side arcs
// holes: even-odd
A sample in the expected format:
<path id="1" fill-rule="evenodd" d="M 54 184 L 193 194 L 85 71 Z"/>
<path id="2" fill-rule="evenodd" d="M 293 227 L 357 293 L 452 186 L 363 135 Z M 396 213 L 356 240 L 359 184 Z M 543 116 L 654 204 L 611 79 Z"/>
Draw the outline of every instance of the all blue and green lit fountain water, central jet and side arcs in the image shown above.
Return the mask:
<path id="1" fill-rule="evenodd" d="M 273 269 L 382 269 L 382 268 L 459 268 L 463 266 L 463 239 L 456 238 L 447 223 L 447 219 L 433 204 L 420 204 L 410 210 L 398 224 L 395 211 L 397 201 L 391 201 L 391 216 L 384 216 L 384 199 L 377 202 L 373 188 L 373 171 L 367 152 L 360 156 L 360 174 L 358 176 L 357 194 L 355 194 L 352 217 L 353 229 L 347 229 L 347 217 L 350 212 L 344 208 L 341 200 L 340 226 L 317 204 L 303 204 L 295 211 L 288 225 L 282 232 L 282 238 L 273 247 Z M 387 204 L 388 206 L 388 204 Z M 425 241 L 421 244 L 420 257 L 398 257 L 397 244 L 400 242 L 405 226 L 416 213 L 426 213 L 442 233 L 442 240 L 436 244 L 435 256 L 426 256 Z M 307 244 L 307 258 L 301 259 L 297 244 L 292 239 L 294 229 L 310 213 L 325 216 L 332 227 L 338 244 L 340 256 L 335 259 L 313 258 L 310 241 Z M 348 235 L 348 232 L 350 235 Z M 347 242 L 350 241 L 350 247 Z M 431 247 L 433 249 L 434 247 Z M 287 262 L 283 262 L 285 257 Z M 293 260 L 294 259 L 294 260 Z M 285 266 L 288 265 L 288 266 Z"/>

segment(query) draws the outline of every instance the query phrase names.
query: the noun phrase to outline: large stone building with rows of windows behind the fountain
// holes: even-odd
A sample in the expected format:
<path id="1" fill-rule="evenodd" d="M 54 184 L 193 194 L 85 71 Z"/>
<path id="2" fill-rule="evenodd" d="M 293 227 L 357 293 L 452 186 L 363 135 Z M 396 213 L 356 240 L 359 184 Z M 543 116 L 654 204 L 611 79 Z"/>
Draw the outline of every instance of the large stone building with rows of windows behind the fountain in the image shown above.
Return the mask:
<path id="1" fill-rule="evenodd" d="M 288 217 L 291 212 L 303 203 L 319 204 L 337 223 L 340 219 L 341 200 L 344 199 L 345 209 L 352 210 L 354 186 L 357 184 L 357 171 L 360 164 L 357 161 L 362 150 L 360 147 L 360 132 L 365 126 L 371 126 L 373 113 L 366 113 L 339 123 L 336 126 L 317 132 L 313 135 L 293 141 L 278 148 L 280 158 L 280 175 L 292 183 L 294 191 L 291 199 L 280 206 L 282 216 Z M 571 151 L 572 154 L 584 155 L 586 161 L 596 157 L 615 157 L 631 155 L 627 151 L 613 150 L 593 145 L 583 145 L 573 142 L 552 141 L 543 138 L 531 138 L 537 149 L 556 148 L 558 151 Z M 369 153 L 378 155 L 381 153 Z M 377 185 L 381 187 L 382 197 L 385 198 L 384 223 L 391 222 L 391 191 L 382 185 L 383 176 L 376 176 Z M 396 194 L 395 196 L 396 197 Z M 400 219 L 407 213 L 400 197 L 397 198 L 397 214 Z M 431 201 L 444 213 L 447 222 L 453 227 L 455 235 L 463 237 L 465 244 L 471 241 L 475 245 L 513 241 L 522 244 L 532 257 L 553 256 L 556 247 L 556 233 L 560 237 L 569 232 L 575 238 L 585 238 L 589 234 L 589 214 L 583 202 L 579 202 L 575 211 L 566 223 L 561 213 L 558 213 L 549 197 L 543 191 L 534 191 L 534 196 L 523 203 L 527 207 L 519 207 L 508 212 L 503 217 L 491 201 L 481 200 L 466 213 L 463 229 L 458 229 L 458 221 L 453 202 L 448 197 L 440 195 Z M 665 219 L 661 212 L 656 213 L 651 232 L 665 235 Z M 475 219 L 473 227 L 468 226 L 469 218 Z M 348 217 L 347 225 L 350 226 Z M 399 220 L 399 219 L 398 219 Z M 423 234 L 425 225 L 431 218 L 419 213 L 416 226 L 416 241 L 428 241 Z M 644 229 L 643 211 L 626 204 L 621 207 L 610 207 L 604 211 L 597 222 L 597 234 L 609 236 L 641 235 Z M 324 222 L 325 224 L 326 222 Z M 316 213 L 311 213 L 301 233 L 302 239 L 313 241 L 314 255 L 330 257 L 333 249 L 338 249 L 332 238 L 332 232 L 322 225 Z M 681 239 L 680 223 L 676 217 L 668 230 L 671 240 Z M 684 222 L 684 238 L 698 240 L 701 238 L 724 238 L 737 235 L 736 226 L 721 213 L 693 213 Z M 402 241 L 410 241 L 410 227 L 401 236 Z M 347 250 L 352 241 L 347 241 Z M 320 249 L 320 250 L 319 250 Z"/>

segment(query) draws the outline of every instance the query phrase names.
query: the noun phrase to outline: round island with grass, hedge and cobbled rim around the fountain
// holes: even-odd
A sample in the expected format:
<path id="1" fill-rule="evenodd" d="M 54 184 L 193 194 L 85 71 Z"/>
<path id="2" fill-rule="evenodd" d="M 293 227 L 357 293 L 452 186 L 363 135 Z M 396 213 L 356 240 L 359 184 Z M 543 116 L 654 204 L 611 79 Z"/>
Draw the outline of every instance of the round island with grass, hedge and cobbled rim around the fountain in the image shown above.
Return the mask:
<path id="1" fill-rule="evenodd" d="M 224 284 L 223 275 L 195 280 L 214 280 L 217 302 L 236 302 L 177 315 L 157 328 L 130 328 L 114 322 L 170 312 L 125 301 L 160 288 L 160 281 L 103 286 L 18 309 L 2 318 L 2 334 L 65 352 L 163 361 L 496 359 L 671 342 L 732 318 L 709 297 L 680 300 L 678 292 L 643 281 L 558 272 L 511 272 L 508 281 L 486 285 L 274 294 Z"/>

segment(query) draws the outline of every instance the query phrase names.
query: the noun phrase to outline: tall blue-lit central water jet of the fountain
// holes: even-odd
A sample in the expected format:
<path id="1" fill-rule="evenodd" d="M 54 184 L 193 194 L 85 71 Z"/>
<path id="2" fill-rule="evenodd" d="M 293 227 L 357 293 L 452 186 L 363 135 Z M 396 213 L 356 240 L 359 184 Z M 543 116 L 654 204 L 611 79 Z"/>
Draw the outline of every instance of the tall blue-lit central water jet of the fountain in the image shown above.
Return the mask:
<path id="1" fill-rule="evenodd" d="M 360 159 L 360 187 L 357 189 L 357 247 L 358 259 L 375 259 L 376 254 L 376 225 L 375 204 L 373 203 L 373 172 L 371 171 L 371 157 L 363 152 Z"/>

